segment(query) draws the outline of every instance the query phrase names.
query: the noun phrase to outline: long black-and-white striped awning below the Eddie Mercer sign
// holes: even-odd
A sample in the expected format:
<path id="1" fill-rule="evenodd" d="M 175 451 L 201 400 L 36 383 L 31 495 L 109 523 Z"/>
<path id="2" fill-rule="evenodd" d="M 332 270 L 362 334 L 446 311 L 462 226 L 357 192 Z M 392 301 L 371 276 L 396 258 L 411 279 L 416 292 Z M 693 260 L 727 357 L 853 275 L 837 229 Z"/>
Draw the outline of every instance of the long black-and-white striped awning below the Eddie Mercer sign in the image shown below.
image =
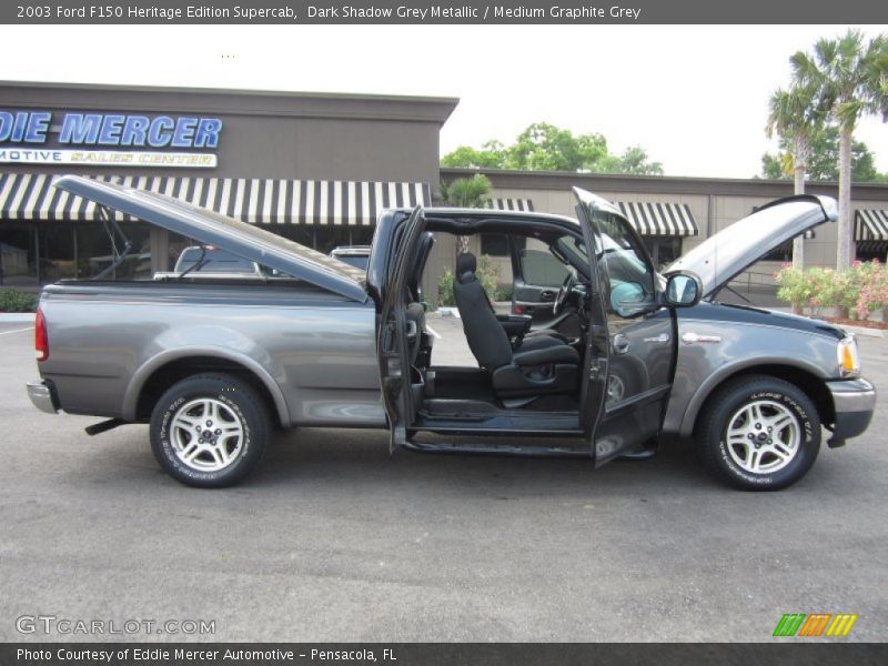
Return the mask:
<path id="1" fill-rule="evenodd" d="M 174 196 L 244 222 L 370 226 L 386 208 L 428 205 L 427 183 L 180 176 L 94 176 Z M 131 220 L 115 213 L 118 220 Z M 100 220 L 91 201 L 52 186 L 52 176 L 0 173 L 0 220 Z"/>

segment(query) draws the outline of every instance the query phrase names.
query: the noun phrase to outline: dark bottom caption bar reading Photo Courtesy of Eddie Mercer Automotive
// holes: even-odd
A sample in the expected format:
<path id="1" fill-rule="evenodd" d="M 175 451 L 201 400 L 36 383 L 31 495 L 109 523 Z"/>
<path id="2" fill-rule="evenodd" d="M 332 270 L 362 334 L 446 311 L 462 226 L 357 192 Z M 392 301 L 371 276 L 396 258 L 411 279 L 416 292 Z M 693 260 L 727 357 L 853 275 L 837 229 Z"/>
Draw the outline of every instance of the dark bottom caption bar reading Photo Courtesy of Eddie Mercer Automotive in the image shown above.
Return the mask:
<path id="1" fill-rule="evenodd" d="M 6 643 L 2 666 L 558 666 L 612 664 L 882 666 L 884 644 L 775 639 L 763 644 L 625 643 Z"/>

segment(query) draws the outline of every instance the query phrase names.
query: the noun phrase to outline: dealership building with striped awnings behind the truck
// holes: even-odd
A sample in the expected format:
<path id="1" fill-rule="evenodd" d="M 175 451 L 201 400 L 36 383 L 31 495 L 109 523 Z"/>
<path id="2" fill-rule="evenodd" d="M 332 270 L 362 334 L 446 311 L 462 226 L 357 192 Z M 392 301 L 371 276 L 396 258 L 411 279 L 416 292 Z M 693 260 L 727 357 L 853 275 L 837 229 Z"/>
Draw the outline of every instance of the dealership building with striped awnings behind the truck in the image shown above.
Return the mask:
<path id="1" fill-rule="evenodd" d="M 442 169 L 440 131 L 457 99 L 289 93 L 118 85 L 0 83 L 0 286 L 37 289 L 87 278 L 113 249 L 100 211 L 52 188 L 78 173 L 153 190 L 262 225 L 329 252 L 366 244 L 379 212 L 440 203 L 440 186 L 472 170 Z M 791 183 L 591 173 L 484 171 L 491 208 L 573 215 L 571 188 L 617 204 L 658 265 L 749 214 L 791 194 Z M 836 196 L 835 183 L 810 184 Z M 852 190 L 856 252 L 885 259 L 888 186 Z M 189 244 L 135 220 L 121 226 L 132 260 L 121 278 L 169 270 Z M 808 265 L 835 265 L 836 225 L 805 240 Z M 509 268 L 502 239 L 472 239 L 471 249 Z M 454 243 L 437 243 L 426 270 L 454 261 Z M 789 258 L 783 248 L 740 276 L 768 283 Z"/>

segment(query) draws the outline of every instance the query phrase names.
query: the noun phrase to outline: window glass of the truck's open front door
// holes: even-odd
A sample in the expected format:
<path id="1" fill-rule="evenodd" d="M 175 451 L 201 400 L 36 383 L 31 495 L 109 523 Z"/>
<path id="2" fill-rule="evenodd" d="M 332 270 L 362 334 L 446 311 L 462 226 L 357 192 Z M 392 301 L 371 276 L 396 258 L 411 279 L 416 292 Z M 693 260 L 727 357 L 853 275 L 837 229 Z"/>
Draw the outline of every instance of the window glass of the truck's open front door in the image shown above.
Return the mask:
<path id="1" fill-rule="evenodd" d="M 654 271 L 644 250 L 625 220 L 593 211 L 593 221 L 598 230 L 595 253 L 608 311 L 624 319 L 640 314 L 656 299 Z"/>

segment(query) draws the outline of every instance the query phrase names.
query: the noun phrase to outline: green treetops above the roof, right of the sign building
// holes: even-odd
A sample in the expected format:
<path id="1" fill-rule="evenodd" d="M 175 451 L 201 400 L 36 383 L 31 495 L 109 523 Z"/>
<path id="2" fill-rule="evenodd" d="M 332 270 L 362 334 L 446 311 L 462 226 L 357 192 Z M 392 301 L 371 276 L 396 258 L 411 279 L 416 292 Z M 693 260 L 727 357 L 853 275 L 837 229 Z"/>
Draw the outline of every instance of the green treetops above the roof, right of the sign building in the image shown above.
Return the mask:
<path id="1" fill-rule="evenodd" d="M 514 143 L 487 141 L 481 149 L 461 145 L 441 159 L 442 167 L 516 169 L 521 171 L 591 171 L 663 175 L 663 164 L 648 159 L 639 145 L 622 154 L 607 150 L 603 134 L 574 134 L 546 122 L 528 125 Z"/>

